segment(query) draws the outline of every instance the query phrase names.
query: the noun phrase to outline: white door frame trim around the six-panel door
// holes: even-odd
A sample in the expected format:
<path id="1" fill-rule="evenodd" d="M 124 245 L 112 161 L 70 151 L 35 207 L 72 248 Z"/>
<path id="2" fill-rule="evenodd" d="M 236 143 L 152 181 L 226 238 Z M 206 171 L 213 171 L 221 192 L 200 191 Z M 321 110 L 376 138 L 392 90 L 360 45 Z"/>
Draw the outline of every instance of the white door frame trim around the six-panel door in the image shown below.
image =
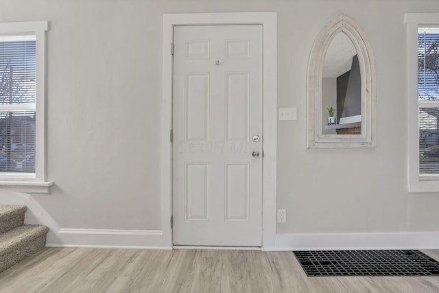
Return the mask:
<path id="1" fill-rule="evenodd" d="M 163 14 L 161 109 L 161 226 L 162 244 L 172 248 L 172 65 L 171 46 L 176 25 L 263 26 L 263 172 L 262 249 L 276 246 L 276 148 L 277 148 L 277 14 L 231 12 Z"/>

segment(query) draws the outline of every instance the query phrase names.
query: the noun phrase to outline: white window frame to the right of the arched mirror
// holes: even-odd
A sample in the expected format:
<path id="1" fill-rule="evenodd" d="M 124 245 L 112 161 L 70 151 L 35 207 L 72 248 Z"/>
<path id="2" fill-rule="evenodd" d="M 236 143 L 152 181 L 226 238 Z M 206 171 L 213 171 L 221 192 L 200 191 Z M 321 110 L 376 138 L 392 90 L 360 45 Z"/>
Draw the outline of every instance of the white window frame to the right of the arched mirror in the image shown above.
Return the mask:
<path id="1" fill-rule="evenodd" d="M 438 176 L 419 174 L 419 108 L 431 103 L 418 101 L 418 28 L 439 25 L 439 13 L 406 13 L 407 32 L 407 121 L 408 121 L 408 191 L 439 191 Z M 439 103 L 434 103 L 439 104 Z"/>

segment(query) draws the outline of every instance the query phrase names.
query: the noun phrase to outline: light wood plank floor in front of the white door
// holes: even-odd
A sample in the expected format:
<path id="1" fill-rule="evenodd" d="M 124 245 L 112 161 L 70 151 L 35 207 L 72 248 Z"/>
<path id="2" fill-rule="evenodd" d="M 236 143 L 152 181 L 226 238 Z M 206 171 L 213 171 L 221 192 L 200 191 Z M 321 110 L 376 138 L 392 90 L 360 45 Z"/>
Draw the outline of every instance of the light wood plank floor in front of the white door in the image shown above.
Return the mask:
<path id="1" fill-rule="evenodd" d="M 1 273 L 0 292 L 423 293 L 439 277 L 307 277 L 291 252 L 45 248 Z"/>

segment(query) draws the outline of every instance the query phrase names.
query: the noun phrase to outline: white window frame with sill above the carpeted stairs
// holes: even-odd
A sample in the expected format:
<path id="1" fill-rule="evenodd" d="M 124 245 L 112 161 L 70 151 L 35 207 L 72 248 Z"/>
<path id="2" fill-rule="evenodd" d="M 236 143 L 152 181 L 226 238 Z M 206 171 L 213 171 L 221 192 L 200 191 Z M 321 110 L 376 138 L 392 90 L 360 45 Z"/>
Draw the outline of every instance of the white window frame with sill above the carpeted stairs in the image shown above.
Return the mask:
<path id="1" fill-rule="evenodd" d="M 0 23 L 0 34 L 35 34 L 36 36 L 36 104 L 35 104 L 35 176 L 29 173 L 0 174 L 0 187 L 29 193 L 49 193 L 53 182 L 46 178 L 45 96 L 47 21 Z"/>

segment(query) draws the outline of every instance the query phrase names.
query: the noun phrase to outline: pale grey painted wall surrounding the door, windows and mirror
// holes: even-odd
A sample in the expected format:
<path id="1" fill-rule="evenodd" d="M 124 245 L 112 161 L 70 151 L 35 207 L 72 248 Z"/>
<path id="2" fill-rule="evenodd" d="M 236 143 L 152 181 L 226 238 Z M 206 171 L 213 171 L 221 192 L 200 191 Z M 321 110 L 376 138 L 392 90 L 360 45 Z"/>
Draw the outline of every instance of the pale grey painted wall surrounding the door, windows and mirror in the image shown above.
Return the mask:
<path id="1" fill-rule="evenodd" d="M 0 21 L 49 21 L 49 195 L 61 228 L 161 230 L 161 15 L 278 12 L 278 233 L 439 231 L 439 193 L 407 193 L 405 12 L 437 0 L 0 0 Z M 377 148 L 307 149 L 306 74 L 318 32 L 340 13 L 377 65 Z M 1 198 L 1 194 L 0 194 Z"/>

